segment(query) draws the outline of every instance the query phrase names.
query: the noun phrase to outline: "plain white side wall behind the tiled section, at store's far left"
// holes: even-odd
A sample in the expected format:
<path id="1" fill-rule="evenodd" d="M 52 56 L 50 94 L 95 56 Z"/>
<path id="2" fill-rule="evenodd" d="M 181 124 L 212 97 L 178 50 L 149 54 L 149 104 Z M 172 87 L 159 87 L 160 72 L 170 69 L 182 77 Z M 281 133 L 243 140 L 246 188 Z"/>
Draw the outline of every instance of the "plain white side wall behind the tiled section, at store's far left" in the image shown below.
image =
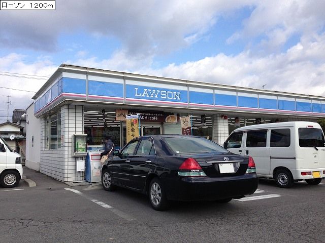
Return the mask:
<path id="1" fill-rule="evenodd" d="M 41 161 L 41 120 L 34 116 L 34 105 L 26 111 L 28 124 L 26 124 L 26 160 L 25 166 L 39 171 Z M 34 136 L 34 144 L 31 143 Z M 34 146 L 32 146 L 34 145 Z"/>

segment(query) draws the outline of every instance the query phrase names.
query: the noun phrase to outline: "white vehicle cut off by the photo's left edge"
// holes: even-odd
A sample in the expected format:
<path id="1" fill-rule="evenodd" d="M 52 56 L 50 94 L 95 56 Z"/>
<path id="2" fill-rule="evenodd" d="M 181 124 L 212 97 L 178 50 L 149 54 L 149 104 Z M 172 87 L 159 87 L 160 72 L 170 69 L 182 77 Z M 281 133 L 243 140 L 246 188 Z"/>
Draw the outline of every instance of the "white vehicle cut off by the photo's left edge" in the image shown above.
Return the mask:
<path id="1" fill-rule="evenodd" d="M 0 185 L 15 187 L 22 178 L 21 156 L 0 137 Z"/>

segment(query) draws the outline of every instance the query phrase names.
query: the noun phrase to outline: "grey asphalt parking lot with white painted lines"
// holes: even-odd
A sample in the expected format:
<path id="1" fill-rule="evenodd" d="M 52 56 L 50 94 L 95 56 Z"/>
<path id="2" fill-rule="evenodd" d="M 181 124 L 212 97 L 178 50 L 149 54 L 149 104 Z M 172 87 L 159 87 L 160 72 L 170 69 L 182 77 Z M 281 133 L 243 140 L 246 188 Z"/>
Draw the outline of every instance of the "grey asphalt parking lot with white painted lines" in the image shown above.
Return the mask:
<path id="1" fill-rule="evenodd" d="M 324 180 L 289 189 L 260 180 L 228 204 L 175 202 L 157 212 L 133 191 L 28 173 L 37 187 L 0 188 L 1 242 L 324 242 Z"/>

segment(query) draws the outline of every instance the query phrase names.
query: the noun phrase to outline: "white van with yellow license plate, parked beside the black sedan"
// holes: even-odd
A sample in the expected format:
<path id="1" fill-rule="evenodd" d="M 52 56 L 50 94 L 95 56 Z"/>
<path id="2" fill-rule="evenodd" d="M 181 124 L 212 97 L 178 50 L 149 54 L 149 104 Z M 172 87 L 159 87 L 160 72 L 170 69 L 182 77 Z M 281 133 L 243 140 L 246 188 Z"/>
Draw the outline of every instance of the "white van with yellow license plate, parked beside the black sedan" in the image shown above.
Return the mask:
<path id="1" fill-rule="evenodd" d="M 252 156 L 259 177 L 274 178 L 279 187 L 294 181 L 317 185 L 325 177 L 325 141 L 321 127 L 308 121 L 269 123 L 238 128 L 223 147 Z"/>

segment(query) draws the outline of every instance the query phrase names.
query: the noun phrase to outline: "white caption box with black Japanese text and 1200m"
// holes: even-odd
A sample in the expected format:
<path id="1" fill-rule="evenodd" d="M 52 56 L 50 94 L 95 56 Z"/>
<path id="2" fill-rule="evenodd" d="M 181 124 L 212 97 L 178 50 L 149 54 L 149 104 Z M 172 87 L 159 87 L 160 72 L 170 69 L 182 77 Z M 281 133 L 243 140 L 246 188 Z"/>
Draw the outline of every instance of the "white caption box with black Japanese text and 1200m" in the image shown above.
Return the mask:
<path id="1" fill-rule="evenodd" d="M 0 10 L 55 10 L 55 0 L 0 0 Z"/>

